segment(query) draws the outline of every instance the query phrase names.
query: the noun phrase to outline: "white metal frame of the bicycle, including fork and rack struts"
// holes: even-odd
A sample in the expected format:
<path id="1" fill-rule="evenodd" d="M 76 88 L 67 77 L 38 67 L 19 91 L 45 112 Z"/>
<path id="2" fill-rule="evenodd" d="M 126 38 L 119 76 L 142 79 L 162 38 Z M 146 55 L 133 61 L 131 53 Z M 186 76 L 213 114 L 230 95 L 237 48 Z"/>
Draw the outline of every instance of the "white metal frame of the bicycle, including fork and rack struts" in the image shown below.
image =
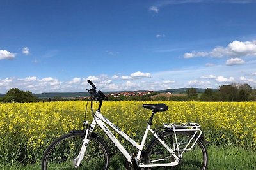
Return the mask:
<path id="1" fill-rule="evenodd" d="M 118 127 L 116 127 L 116 125 L 114 125 L 110 120 L 108 120 L 108 118 L 104 117 L 99 111 L 96 111 L 95 114 L 94 114 L 94 118 L 93 118 L 92 124 L 90 124 L 90 128 L 86 129 L 86 135 L 85 135 L 85 138 L 84 138 L 81 150 L 79 152 L 79 155 L 77 156 L 76 159 L 74 159 L 74 166 L 75 167 L 79 167 L 79 164 L 83 160 L 84 153 L 86 152 L 86 148 L 88 146 L 88 143 L 90 142 L 90 140 L 88 139 L 88 134 L 90 132 L 93 132 L 93 130 L 95 128 L 95 125 L 97 125 L 97 124 L 108 135 L 109 139 L 111 139 L 111 141 L 113 141 L 113 143 L 120 150 L 120 152 L 124 155 L 124 157 L 132 164 L 132 162 L 131 162 L 131 155 L 127 152 L 127 150 L 125 150 L 124 146 L 118 141 L 118 139 L 116 139 L 116 137 L 108 129 L 108 126 L 105 123 L 107 125 L 109 125 L 109 127 L 111 127 L 118 134 L 120 134 L 122 137 L 124 137 L 127 141 L 129 141 L 129 143 L 131 143 L 131 145 L 133 145 L 134 147 L 136 147 L 138 149 L 138 153 L 137 153 L 137 155 L 135 157 L 136 164 L 138 165 L 138 167 L 176 166 L 176 165 L 179 164 L 179 160 L 180 160 L 179 157 L 182 157 L 182 153 L 184 151 L 186 151 L 186 150 L 190 150 L 191 148 L 193 148 L 193 146 L 192 146 L 191 148 L 185 148 L 184 150 L 178 150 L 179 151 L 179 157 L 178 157 L 177 155 L 175 155 L 175 152 L 168 145 L 166 145 L 164 143 L 164 141 L 161 138 L 159 138 L 159 136 L 157 136 L 157 134 L 150 128 L 149 124 L 147 125 L 147 129 L 145 130 L 145 134 L 144 134 L 143 139 L 141 141 L 141 145 L 139 145 L 132 138 L 130 138 L 127 134 L 125 134 Z M 165 127 L 168 127 L 168 125 L 170 126 L 170 124 L 164 124 Z M 184 130 L 184 129 L 182 129 L 182 130 Z M 164 164 L 143 164 L 143 163 L 139 163 L 139 160 L 140 160 L 140 157 L 141 157 L 141 153 L 142 153 L 143 147 L 145 145 L 145 141 L 146 141 L 147 136 L 148 136 L 148 131 L 150 131 L 155 136 L 155 138 L 164 146 L 164 148 L 166 148 L 166 150 L 168 150 L 168 152 L 170 152 L 172 154 L 172 156 L 174 157 L 173 162 L 164 163 Z M 177 129 L 177 130 L 173 129 L 173 131 L 179 131 L 179 129 Z M 196 130 L 196 131 L 200 131 L 200 130 Z M 194 138 L 194 136 L 193 136 L 193 138 Z M 198 136 L 198 138 L 199 137 L 200 137 L 200 135 Z M 176 138 L 176 133 L 175 133 L 175 138 Z M 191 140 L 193 138 L 191 138 Z M 196 139 L 196 141 L 197 141 L 197 139 Z M 190 142 L 191 141 L 189 141 L 189 143 Z M 176 143 L 177 143 L 177 138 L 176 138 Z M 188 145 L 189 145 L 189 143 L 188 143 Z M 194 145 L 195 145 L 195 143 L 194 143 Z M 179 145 L 177 146 L 177 148 L 179 149 Z M 180 151 L 181 151 L 181 153 L 180 153 Z M 164 160 L 164 159 L 161 159 L 161 160 Z M 157 160 L 157 161 L 160 161 L 160 160 Z"/>

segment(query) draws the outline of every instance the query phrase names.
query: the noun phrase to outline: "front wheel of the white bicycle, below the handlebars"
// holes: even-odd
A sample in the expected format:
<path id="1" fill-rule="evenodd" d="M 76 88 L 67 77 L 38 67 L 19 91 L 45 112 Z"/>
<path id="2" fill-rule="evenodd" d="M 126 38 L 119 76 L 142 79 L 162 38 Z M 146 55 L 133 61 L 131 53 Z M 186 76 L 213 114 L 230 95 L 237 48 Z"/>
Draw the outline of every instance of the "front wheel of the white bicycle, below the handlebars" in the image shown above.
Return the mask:
<path id="1" fill-rule="evenodd" d="M 42 170 L 52 169 L 108 169 L 109 148 L 106 142 L 92 133 L 83 160 L 74 167 L 74 159 L 83 145 L 84 132 L 69 133 L 55 139 L 42 158 Z"/>

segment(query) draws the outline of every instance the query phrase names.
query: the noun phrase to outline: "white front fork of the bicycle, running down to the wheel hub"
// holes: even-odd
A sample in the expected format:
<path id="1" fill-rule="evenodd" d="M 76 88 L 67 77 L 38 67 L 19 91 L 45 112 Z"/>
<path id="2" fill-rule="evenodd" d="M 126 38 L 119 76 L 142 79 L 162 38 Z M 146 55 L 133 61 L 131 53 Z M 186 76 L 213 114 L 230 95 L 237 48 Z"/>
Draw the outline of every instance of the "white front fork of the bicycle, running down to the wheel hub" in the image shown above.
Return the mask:
<path id="1" fill-rule="evenodd" d="M 88 121 L 86 121 L 84 123 L 84 125 L 88 125 Z M 87 146 L 89 144 L 89 141 L 90 141 L 91 133 L 92 133 L 95 125 L 96 125 L 96 122 L 95 122 L 95 120 L 93 120 L 92 124 L 90 124 L 90 128 L 87 128 L 86 131 L 85 131 L 85 136 L 84 136 L 84 139 L 83 139 L 83 145 L 81 147 L 81 150 L 80 150 L 78 156 L 73 160 L 73 164 L 74 164 L 75 168 L 79 167 L 82 160 L 83 160 L 84 154 L 86 152 L 86 148 L 87 148 Z"/>

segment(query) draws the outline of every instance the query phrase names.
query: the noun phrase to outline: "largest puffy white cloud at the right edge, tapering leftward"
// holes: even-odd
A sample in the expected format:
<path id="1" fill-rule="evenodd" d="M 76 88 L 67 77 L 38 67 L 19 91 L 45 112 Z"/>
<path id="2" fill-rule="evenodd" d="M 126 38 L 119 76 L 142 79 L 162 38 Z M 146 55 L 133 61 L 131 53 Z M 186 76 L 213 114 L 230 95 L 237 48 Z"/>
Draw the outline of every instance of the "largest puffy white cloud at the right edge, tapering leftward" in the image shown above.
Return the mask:
<path id="1" fill-rule="evenodd" d="M 227 47 L 217 46 L 211 52 L 185 53 L 184 58 L 193 57 L 244 57 L 256 56 L 256 41 L 233 41 Z"/>

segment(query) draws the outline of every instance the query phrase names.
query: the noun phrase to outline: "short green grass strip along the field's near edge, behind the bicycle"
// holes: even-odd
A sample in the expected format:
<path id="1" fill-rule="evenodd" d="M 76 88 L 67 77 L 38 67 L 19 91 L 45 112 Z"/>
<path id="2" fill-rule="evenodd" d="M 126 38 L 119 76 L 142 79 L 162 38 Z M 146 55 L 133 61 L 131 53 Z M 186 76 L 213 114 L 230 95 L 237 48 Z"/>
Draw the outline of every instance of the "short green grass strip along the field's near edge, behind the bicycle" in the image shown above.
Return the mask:
<path id="1" fill-rule="evenodd" d="M 234 148 L 231 146 L 218 148 L 216 146 L 207 146 L 209 164 L 208 169 L 211 170 L 256 170 L 256 153 L 243 148 Z M 111 166 L 109 170 L 125 169 L 125 159 L 118 153 L 111 157 Z M 2 170 L 39 170 L 40 164 L 33 164 L 21 166 L 13 164 L 12 166 L 5 166 L 0 164 Z"/>

